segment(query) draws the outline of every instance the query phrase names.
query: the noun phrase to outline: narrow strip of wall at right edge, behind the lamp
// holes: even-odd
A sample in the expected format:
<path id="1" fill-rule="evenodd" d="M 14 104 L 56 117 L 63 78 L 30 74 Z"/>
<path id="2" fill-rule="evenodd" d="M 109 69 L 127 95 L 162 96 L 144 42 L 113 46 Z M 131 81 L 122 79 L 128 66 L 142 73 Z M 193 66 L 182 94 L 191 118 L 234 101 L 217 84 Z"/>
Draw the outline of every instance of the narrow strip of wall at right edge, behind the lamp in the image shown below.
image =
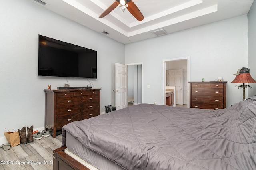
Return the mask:
<path id="1" fill-rule="evenodd" d="M 248 13 L 248 68 L 250 75 L 256 80 L 256 2 L 254 1 Z M 249 84 L 248 96 L 256 95 L 256 83 Z M 247 92 L 246 92 L 247 93 Z"/>

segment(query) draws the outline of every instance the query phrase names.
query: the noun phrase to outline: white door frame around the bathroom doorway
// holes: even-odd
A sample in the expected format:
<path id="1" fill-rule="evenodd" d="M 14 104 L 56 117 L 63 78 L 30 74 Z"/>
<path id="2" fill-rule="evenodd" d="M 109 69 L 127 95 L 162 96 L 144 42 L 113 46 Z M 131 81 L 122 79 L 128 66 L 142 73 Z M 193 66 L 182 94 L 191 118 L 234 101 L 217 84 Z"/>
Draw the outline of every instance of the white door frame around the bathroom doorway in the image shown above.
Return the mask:
<path id="1" fill-rule="evenodd" d="M 190 56 L 188 57 L 182 57 L 182 58 L 174 58 L 174 59 L 164 59 L 163 60 L 163 91 L 162 91 L 162 99 L 163 99 L 163 105 L 165 105 L 165 86 L 166 86 L 166 62 L 168 61 L 180 61 L 180 60 L 187 60 L 187 68 L 188 68 L 188 82 L 190 81 Z M 188 83 L 189 87 L 189 83 Z M 188 88 L 188 107 L 190 105 L 189 101 L 189 88 Z"/>

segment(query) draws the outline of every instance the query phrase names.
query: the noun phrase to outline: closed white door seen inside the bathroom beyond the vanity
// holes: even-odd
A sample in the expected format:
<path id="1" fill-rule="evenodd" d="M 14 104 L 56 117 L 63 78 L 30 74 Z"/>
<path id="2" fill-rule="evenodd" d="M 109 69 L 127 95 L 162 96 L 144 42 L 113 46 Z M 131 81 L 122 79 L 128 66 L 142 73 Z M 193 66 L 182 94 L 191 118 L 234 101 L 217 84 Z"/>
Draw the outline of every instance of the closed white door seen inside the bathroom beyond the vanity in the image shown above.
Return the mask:
<path id="1" fill-rule="evenodd" d="M 183 69 L 169 70 L 170 86 L 176 86 L 176 105 L 183 105 Z"/>

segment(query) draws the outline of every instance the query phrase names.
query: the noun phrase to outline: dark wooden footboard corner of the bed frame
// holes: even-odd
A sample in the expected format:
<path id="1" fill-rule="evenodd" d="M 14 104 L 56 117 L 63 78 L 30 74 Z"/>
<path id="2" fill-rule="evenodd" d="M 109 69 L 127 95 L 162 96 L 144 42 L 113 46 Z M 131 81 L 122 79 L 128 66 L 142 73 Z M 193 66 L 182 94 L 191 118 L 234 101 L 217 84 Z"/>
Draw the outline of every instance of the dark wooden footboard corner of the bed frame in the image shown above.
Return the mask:
<path id="1" fill-rule="evenodd" d="M 66 146 L 53 151 L 53 170 L 90 170 L 64 152 Z"/>

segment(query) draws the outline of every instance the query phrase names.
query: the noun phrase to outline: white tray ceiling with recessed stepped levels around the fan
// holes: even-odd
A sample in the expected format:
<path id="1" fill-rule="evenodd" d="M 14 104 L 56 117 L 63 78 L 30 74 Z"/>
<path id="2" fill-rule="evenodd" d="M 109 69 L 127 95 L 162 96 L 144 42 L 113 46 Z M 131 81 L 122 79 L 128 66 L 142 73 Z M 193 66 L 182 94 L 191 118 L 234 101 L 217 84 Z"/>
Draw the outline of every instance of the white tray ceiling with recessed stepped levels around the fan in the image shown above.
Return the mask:
<path id="1" fill-rule="evenodd" d="M 30 0 L 40 6 L 37 0 Z M 98 18 L 115 0 L 41 0 L 43 8 L 56 12 L 96 32 L 130 43 L 156 37 L 153 31 L 167 34 L 247 14 L 253 0 L 132 0 L 144 20 L 139 22 L 126 9 L 117 6 Z M 102 33 L 103 34 L 103 33 Z"/>

